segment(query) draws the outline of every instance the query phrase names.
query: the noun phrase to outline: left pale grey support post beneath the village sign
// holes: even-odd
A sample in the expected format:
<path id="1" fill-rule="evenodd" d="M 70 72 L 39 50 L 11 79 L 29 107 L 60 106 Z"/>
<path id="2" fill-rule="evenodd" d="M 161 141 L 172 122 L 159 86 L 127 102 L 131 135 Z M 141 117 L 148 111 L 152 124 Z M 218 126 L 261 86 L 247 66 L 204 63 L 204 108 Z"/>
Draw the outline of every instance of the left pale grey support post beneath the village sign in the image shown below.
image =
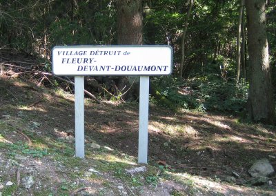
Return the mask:
<path id="1" fill-rule="evenodd" d="M 84 77 L 75 76 L 75 150 L 84 158 Z"/>

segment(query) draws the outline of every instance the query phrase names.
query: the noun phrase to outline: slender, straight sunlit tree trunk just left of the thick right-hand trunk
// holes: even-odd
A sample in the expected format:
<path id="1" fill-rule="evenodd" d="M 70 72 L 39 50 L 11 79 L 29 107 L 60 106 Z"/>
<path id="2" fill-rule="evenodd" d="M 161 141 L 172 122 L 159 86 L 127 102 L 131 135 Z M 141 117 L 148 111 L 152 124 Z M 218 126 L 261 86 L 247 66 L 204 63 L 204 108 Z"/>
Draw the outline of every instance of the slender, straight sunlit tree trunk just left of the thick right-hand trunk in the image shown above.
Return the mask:
<path id="1" fill-rule="evenodd" d="M 244 9 L 244 0 L 239 1 L 239 20 L 237 23 L 237 78 L 239 83 L 239 75 L 241 71 L 241 32 L 242 32 L 242 10 Z"/>

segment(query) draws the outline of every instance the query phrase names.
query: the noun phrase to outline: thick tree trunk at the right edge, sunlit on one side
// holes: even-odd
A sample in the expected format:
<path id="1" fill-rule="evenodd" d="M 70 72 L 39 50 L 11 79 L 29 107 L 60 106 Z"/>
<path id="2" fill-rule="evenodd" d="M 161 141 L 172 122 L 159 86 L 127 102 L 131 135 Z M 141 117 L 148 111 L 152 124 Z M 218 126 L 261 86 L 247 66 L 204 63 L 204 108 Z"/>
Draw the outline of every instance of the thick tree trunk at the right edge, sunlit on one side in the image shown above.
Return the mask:
<path id="1" fill-rule="evenodd" d="M 246 0 L 250 84 L 248 110 L 253 121 L 274 124 L 275 105 L 268 61 L 266 0 Z"/>

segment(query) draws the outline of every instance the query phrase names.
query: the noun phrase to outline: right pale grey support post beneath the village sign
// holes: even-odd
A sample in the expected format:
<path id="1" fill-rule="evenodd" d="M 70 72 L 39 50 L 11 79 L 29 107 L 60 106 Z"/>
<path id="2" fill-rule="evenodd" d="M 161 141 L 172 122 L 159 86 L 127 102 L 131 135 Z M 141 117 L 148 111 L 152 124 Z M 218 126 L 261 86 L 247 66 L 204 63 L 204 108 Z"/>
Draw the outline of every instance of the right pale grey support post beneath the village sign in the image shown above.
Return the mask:
<path id="1" fill-rule="evenodd" d="M 138 163 L 148 163 L 148 97 L 150 77 L 140 77 Z"/>

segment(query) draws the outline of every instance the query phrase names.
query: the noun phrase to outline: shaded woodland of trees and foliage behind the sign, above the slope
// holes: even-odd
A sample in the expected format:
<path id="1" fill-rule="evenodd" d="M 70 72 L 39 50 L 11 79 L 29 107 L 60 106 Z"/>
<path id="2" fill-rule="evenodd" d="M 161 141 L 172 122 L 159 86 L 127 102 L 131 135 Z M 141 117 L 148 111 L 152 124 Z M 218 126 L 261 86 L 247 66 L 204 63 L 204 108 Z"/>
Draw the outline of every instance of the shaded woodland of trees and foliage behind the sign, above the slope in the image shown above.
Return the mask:
<path id="1" fill-rule="evenodd" d="M 141 36 L 132 38 L 137 40 L 134 43 L 165 44 L 174 50 L 172 75 L 151 78 L 151 101 L 172 109 L 228 112 L 240 115 L 242 119 L 275 122 L 274 101 L 264 101 L 264 97 L 270 100 L 275 97 L 275 88 L 268 85 L 276 84 L 276 10 L 273 0 L 248 3 L 253 6 L 262 4 L 266 12 L 264 35 L 268 40 L 269 64 L 263 70 L 251 69 L 253 63 L 248 59 L 249 14 L 244 1 L 0 2 L 1 50 L 37 58 L 36 68 L 40 70 L 51 72 L 50 52 L 54 46 L 131 44 L 124 37 L 138 32 Z M 121 16 L 120 9 L 131 6 L 137 7 L 133 14 L 141 14 L 139 29 L 126 29 L 120 25 L 131 23 L 135 18 L 134 15 Z M 269 74 L 264 77 L 268 78 L 268 83 L 254 79 L 267 68 L 268 73 L 271 72 L 271 81 Z M 252 75 L 250 70 L 253 70 Z M 59 84 L 50 84 L 43 75 L 36 79 L 45 86 L 59 85 L 72 90 L 66 82 L 62 84 L 57 80 Z M 124 88 L 125 83 L 120 84 L 121 79 L 92 77 L 88 81 L 91 84 L 89 90 L 100 99 L 129 98 L 121 96 L 128 90 Z M 248 93 L 250 86 L 255 84 L 264 92 L 255 89 Z M 255 105 L 250 104 L 252 97 L 257 97 Z M 262 102 L 268 102 L 264 103 L 265 115 L 262 115 L 264 110 L 257 108 Z M 273 108 L 272 111 L 269 108 Z"/>

